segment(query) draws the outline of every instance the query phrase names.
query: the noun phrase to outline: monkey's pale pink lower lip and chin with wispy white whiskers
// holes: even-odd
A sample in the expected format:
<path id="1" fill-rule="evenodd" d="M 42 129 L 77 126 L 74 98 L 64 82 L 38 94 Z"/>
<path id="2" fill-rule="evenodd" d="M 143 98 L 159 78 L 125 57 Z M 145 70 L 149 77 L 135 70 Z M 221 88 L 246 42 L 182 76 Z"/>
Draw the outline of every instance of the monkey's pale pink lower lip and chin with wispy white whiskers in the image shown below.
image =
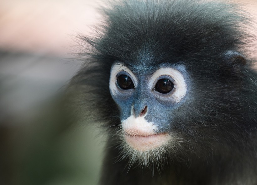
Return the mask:
<path id="1" fill-rule="evenodd" d="M 123 132 L 121 134 L 119 160 L 127 158 L 129 168 L 131 166 L 160 168 L 160 165 L 167 161 L 170 150 L 176 149 L 176 139 L 169 133 L 158 134 L 131 134 Z"/>

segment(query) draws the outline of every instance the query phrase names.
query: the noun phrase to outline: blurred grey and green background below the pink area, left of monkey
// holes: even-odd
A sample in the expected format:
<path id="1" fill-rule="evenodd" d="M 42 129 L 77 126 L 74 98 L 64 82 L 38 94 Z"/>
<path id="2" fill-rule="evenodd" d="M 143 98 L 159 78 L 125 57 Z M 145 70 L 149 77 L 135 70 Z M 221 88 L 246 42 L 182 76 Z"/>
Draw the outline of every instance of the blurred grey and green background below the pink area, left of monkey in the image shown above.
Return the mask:
<path id="1" fill-rule="evenodd" d="M 102 134 L 64 112 L 65 84 L 79 66 L 10 52 L 0 61 L 0 184 L 97 184 Z"/>

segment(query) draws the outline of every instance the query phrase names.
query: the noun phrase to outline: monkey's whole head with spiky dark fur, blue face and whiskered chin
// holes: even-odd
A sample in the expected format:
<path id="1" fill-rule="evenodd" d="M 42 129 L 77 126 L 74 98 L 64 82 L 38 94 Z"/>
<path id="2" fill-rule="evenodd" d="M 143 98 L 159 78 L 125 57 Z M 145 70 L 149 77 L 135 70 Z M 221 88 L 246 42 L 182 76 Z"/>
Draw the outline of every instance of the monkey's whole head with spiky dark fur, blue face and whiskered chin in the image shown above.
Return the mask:
<path id="1" fill-rule="evenodd" d="M 231 6 L 125 1 L 105 10 L 100 35 L 81 37 L 74 112 L 102 122 L 119 159 L 204 161 L 249 144 L 255 73 L 244 57 L 247 18 Z"/>

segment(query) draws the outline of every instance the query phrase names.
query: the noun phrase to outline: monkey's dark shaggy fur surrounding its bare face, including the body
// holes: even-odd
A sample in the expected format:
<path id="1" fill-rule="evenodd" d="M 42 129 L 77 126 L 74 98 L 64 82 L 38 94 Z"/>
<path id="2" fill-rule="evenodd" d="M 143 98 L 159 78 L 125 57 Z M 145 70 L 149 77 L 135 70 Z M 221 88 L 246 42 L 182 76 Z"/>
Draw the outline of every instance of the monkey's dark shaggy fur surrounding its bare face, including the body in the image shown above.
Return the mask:
<path id="1" fill-rule="evenodd" d="M 76 116 L 102 122 L 109 133 L 101 184 L 257 184 L 257 81 L 242 57 L 252 37 L 240 8 L 139 0 L 104 12 L 97 38 L 81 37 L 86 64 L 69 89 Z M 150 166 L 129 166 L 115 136 L 119 110 L 109 77 L 117 60 L 132 69 L 141 61 L 179 63 L 190 75 L 190 100 L 174 112 L 172 125 L 181 140 Z"/>

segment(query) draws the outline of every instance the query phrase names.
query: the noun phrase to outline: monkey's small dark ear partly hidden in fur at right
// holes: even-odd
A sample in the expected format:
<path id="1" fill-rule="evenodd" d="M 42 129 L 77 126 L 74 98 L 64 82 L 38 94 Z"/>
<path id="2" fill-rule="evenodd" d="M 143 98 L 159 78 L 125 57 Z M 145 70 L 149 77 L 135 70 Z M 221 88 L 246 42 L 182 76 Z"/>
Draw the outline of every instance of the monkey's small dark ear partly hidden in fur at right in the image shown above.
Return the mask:
<path id="1" fill-rule="evenodd" d="M 225 53 L 225 58 L 229 63 L 234 65 L 246 65 L 247 63 L 247 59 L 242 54 L 231 50 Z"/>

